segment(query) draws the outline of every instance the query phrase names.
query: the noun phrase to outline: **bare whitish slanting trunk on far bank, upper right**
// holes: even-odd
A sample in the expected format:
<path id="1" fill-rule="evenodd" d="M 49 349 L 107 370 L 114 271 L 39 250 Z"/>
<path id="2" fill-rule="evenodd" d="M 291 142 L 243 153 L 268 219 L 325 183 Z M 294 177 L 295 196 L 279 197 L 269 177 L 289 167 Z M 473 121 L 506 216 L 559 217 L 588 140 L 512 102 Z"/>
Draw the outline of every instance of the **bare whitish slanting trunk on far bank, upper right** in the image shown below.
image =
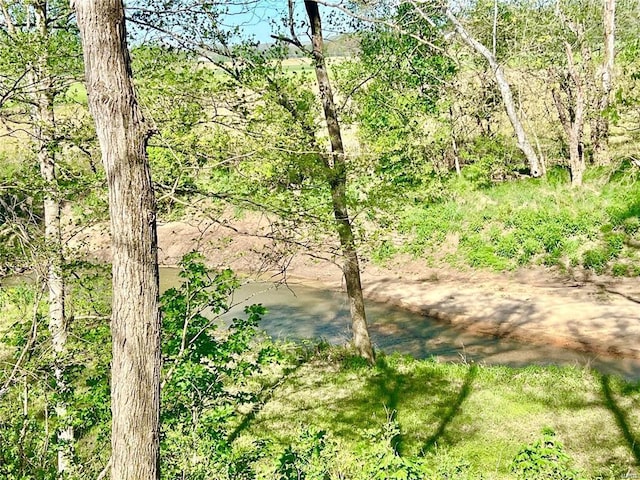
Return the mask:
<path id="1" fill-rule="evenodd" d="M 515 102 L 513 101 L 513 94 L 511 93 L 511 87 L 509 86 L 509 82 L 507 82 L 502 66 L 498 63 L 495 55 L 492 54 L 487 47 L 482 45 L 471 36 L 471 34 L 464 28 L 464 26 L 456 18 L 453 12 L 451 12 L 451 10 L 447 8 L 445 14 L 449 21 L 453 23 L 456 31 L 462 37 L 465 43 L 469 45 L 475 52 L 482 55 L 489 63 L 493 75 L 495 76 L 498 89 L 500 90 L 500 95 L 502 96 L 502 103 L 504 104 L 507 116 L 509 117 L 509 121 L 511 122 L 513 131 L 516 134 L 516 138 L 518 139 L 518 148 L 520 148 L 522 153 L 524 153 L 524 156 L 529 163 L 529 170 L 531 171 L 531 175 L 533 175 L 534 177 L 542 176 L 544 173 L 544 169 L 542 168 L 540 160 L 538 159 L 535 150 L 531 146 L 531 143 L 529 143 L 529 139 L 527 138 L 527 134 L 524 131 L 524 127 L 522 126 L 522 123 L 518 118 Z"/>

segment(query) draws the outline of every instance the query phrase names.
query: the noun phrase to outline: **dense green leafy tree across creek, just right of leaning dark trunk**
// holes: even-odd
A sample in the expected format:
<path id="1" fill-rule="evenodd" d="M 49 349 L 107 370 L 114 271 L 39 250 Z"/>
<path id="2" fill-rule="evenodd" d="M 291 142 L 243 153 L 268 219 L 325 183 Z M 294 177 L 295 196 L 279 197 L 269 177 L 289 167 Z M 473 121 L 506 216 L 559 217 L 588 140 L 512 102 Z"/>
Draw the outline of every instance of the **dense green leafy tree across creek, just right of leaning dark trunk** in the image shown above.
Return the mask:
<path id="1" fill-rule="evenodd" d="M 352 34 L 360 45 L 357 55 L 333 68 L 345 98 L 343 123 L 357 127 L 362 156 L 375 159 L 361 162 L 372 174 L 360 171 L 356 182 L 377 183 L 376 203 L 389 200 L 385 210 L 400 203 L 398 196 L 426 198 L 434 180 L 454 167 L 445 153 L 455 143 L 450 142 L 454 134 L 441 114 L 453 104 L 447 89 L 457 69 L 445 53 L 442 17 L 434 16 L 432 26 L 411 4 L 403 4 L 392 18 L 405 34 L 387 25 L 365 26 Z"/>

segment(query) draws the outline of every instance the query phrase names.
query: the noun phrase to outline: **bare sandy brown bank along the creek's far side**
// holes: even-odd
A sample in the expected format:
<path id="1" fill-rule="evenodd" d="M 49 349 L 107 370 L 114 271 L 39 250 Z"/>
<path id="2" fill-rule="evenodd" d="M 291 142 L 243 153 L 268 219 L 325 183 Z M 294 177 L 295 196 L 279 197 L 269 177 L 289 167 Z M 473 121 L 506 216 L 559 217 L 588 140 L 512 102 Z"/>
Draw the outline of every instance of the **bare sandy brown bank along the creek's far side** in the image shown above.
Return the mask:
<path id="1" fill-rule="evenodd" d="M 96 230 L 96 228 L 98 228 Z M 106 226 L 74 240 L 92 257 L 109 261 Z M 102 230 L 100 230 L 102 229 Z M 173 266 L 199 250 L 210 266 L 238 273 L 343 287 L 339 258 L 279 255 L 265 239 L 268 219 L 248 215 L 233 223 L 168 222 L 159 225 L 159 260 Z M 329 251 L 331 246 L 325 250 Z M 290 253 L 290 252 L 286 252 Z M 552 344 L 607 356 L 640 358 L 640 282 L 528 267 L 514 272 L 460 271 L 398 256 L 384 266 L 363 262 L 367 298 L 423 313 L 475 333 L 535 344 Z"/>

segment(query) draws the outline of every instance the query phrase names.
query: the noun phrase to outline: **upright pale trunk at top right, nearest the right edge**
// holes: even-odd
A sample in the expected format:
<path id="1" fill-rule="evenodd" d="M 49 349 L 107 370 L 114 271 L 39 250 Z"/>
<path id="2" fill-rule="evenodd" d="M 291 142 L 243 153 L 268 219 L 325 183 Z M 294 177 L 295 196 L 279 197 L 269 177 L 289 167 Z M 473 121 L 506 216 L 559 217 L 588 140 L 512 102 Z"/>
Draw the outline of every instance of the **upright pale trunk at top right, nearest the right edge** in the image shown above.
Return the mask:
<path id="1" fill-rule="evenodd" d="M 593 161 L 596 165 L 607 165 L 609 157 L 609 120 L 607 110 L 610 105 L 615 60 L 616 0 L 604 2 L 604 58 L 602 60 L 601 91 L 598 112 L 591 126 Z"/>

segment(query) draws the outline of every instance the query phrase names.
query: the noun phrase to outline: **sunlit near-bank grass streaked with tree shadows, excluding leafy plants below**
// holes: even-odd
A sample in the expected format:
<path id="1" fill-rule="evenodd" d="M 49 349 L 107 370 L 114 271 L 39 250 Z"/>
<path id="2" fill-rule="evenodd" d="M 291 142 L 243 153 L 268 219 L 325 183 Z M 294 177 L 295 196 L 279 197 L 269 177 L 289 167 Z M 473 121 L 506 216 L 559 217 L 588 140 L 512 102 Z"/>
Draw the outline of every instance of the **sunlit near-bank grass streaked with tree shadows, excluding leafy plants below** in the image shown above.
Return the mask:
<path id="1" fill-rule="evenodd" d="M 295 444 L 301 426 L 311 426 L 336 442 L 336 472 L 345 476 L 334 472 L 335 478 L 352 478 L 350 469 L 375 448 L 371 431 L 394 417 L 402 457 L 421 459 L 434 471 L 464 465 L 468 478 L 507 479 L 515 478 L 511 463 L 522 446 L 550 429 L 581 478 L 636 472 L 638 385 L 577 368 L 510 369 L 400 356 L 381 357 L 370 369 L 329 352 L 289 374 L 238 441 Z"/>

